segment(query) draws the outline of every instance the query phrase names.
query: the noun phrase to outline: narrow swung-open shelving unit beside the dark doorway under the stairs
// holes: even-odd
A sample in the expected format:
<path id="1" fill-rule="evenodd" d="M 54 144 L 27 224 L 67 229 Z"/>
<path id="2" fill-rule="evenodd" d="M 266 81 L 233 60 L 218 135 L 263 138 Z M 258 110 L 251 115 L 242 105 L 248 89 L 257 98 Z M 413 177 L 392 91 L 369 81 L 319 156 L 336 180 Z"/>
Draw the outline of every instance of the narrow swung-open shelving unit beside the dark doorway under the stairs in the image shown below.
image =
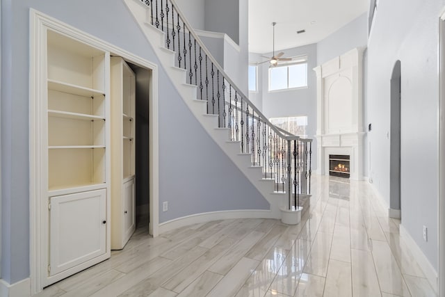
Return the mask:
<path id="1" fill-rule="evenodd" d="M 120 57 L 111 58 L 111 249 L 124 248 L 136 229 L 136 76 Z"/>

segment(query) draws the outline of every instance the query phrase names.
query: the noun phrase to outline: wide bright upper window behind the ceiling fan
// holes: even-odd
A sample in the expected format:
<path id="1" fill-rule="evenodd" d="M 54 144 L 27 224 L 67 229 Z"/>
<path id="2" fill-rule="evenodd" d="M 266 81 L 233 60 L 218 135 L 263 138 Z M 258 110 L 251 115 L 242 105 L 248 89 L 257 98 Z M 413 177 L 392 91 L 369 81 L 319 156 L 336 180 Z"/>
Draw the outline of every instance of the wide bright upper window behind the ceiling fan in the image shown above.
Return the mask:
<path id="1" fill-rule="evenodd" d="M 269 68 L 269 90 L 307 87 L 307 58 Z"/>

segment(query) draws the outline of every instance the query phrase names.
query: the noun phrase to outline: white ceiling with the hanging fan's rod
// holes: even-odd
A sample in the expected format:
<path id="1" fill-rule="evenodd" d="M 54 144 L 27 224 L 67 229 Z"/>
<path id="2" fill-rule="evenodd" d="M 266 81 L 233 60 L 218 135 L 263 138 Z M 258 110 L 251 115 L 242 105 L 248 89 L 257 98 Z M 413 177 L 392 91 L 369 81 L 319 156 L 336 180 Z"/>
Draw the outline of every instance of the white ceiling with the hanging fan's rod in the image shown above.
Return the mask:
<path id="1" fill-rule="evenodd" d="M 249 51 L 272 51 L 272 22 L 277 52 L 319 42 L 368 8 L 369 0 L 249 0 Z"/>

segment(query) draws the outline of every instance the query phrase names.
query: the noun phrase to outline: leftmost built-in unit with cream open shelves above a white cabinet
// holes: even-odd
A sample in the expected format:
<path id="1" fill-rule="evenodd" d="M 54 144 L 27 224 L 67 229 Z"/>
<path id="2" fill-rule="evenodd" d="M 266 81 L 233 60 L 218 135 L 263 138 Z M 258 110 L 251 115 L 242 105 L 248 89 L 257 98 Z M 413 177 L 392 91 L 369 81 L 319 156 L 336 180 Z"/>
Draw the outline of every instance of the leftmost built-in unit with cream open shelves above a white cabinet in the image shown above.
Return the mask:
<path id="1" fill-rule="evenodd" d="M 110 257 L 110 54 L 46 33 L 47 285 Z"/>

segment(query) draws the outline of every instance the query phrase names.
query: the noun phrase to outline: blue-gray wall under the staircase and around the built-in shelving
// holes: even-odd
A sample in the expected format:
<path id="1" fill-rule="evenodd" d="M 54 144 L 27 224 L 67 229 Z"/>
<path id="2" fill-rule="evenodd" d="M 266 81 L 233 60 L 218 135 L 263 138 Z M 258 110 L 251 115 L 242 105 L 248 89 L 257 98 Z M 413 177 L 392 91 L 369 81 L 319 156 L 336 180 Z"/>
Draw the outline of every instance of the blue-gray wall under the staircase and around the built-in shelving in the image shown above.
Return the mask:
<path id="1" fill-rule="evenodd" d="M 123 1 L 62 5 L 57 0 L 1 0 L 1 4 L 1 275 L 14 283 L 29 277 L 29 8 L 148 61 L 159 61 Z M 268 207 L 186 109 L 162 67 L 159 127 L 159 200 L 168 200 L 170 206 L 165 213 L 160 209 L 161 223 L 207 211 Z"/>

